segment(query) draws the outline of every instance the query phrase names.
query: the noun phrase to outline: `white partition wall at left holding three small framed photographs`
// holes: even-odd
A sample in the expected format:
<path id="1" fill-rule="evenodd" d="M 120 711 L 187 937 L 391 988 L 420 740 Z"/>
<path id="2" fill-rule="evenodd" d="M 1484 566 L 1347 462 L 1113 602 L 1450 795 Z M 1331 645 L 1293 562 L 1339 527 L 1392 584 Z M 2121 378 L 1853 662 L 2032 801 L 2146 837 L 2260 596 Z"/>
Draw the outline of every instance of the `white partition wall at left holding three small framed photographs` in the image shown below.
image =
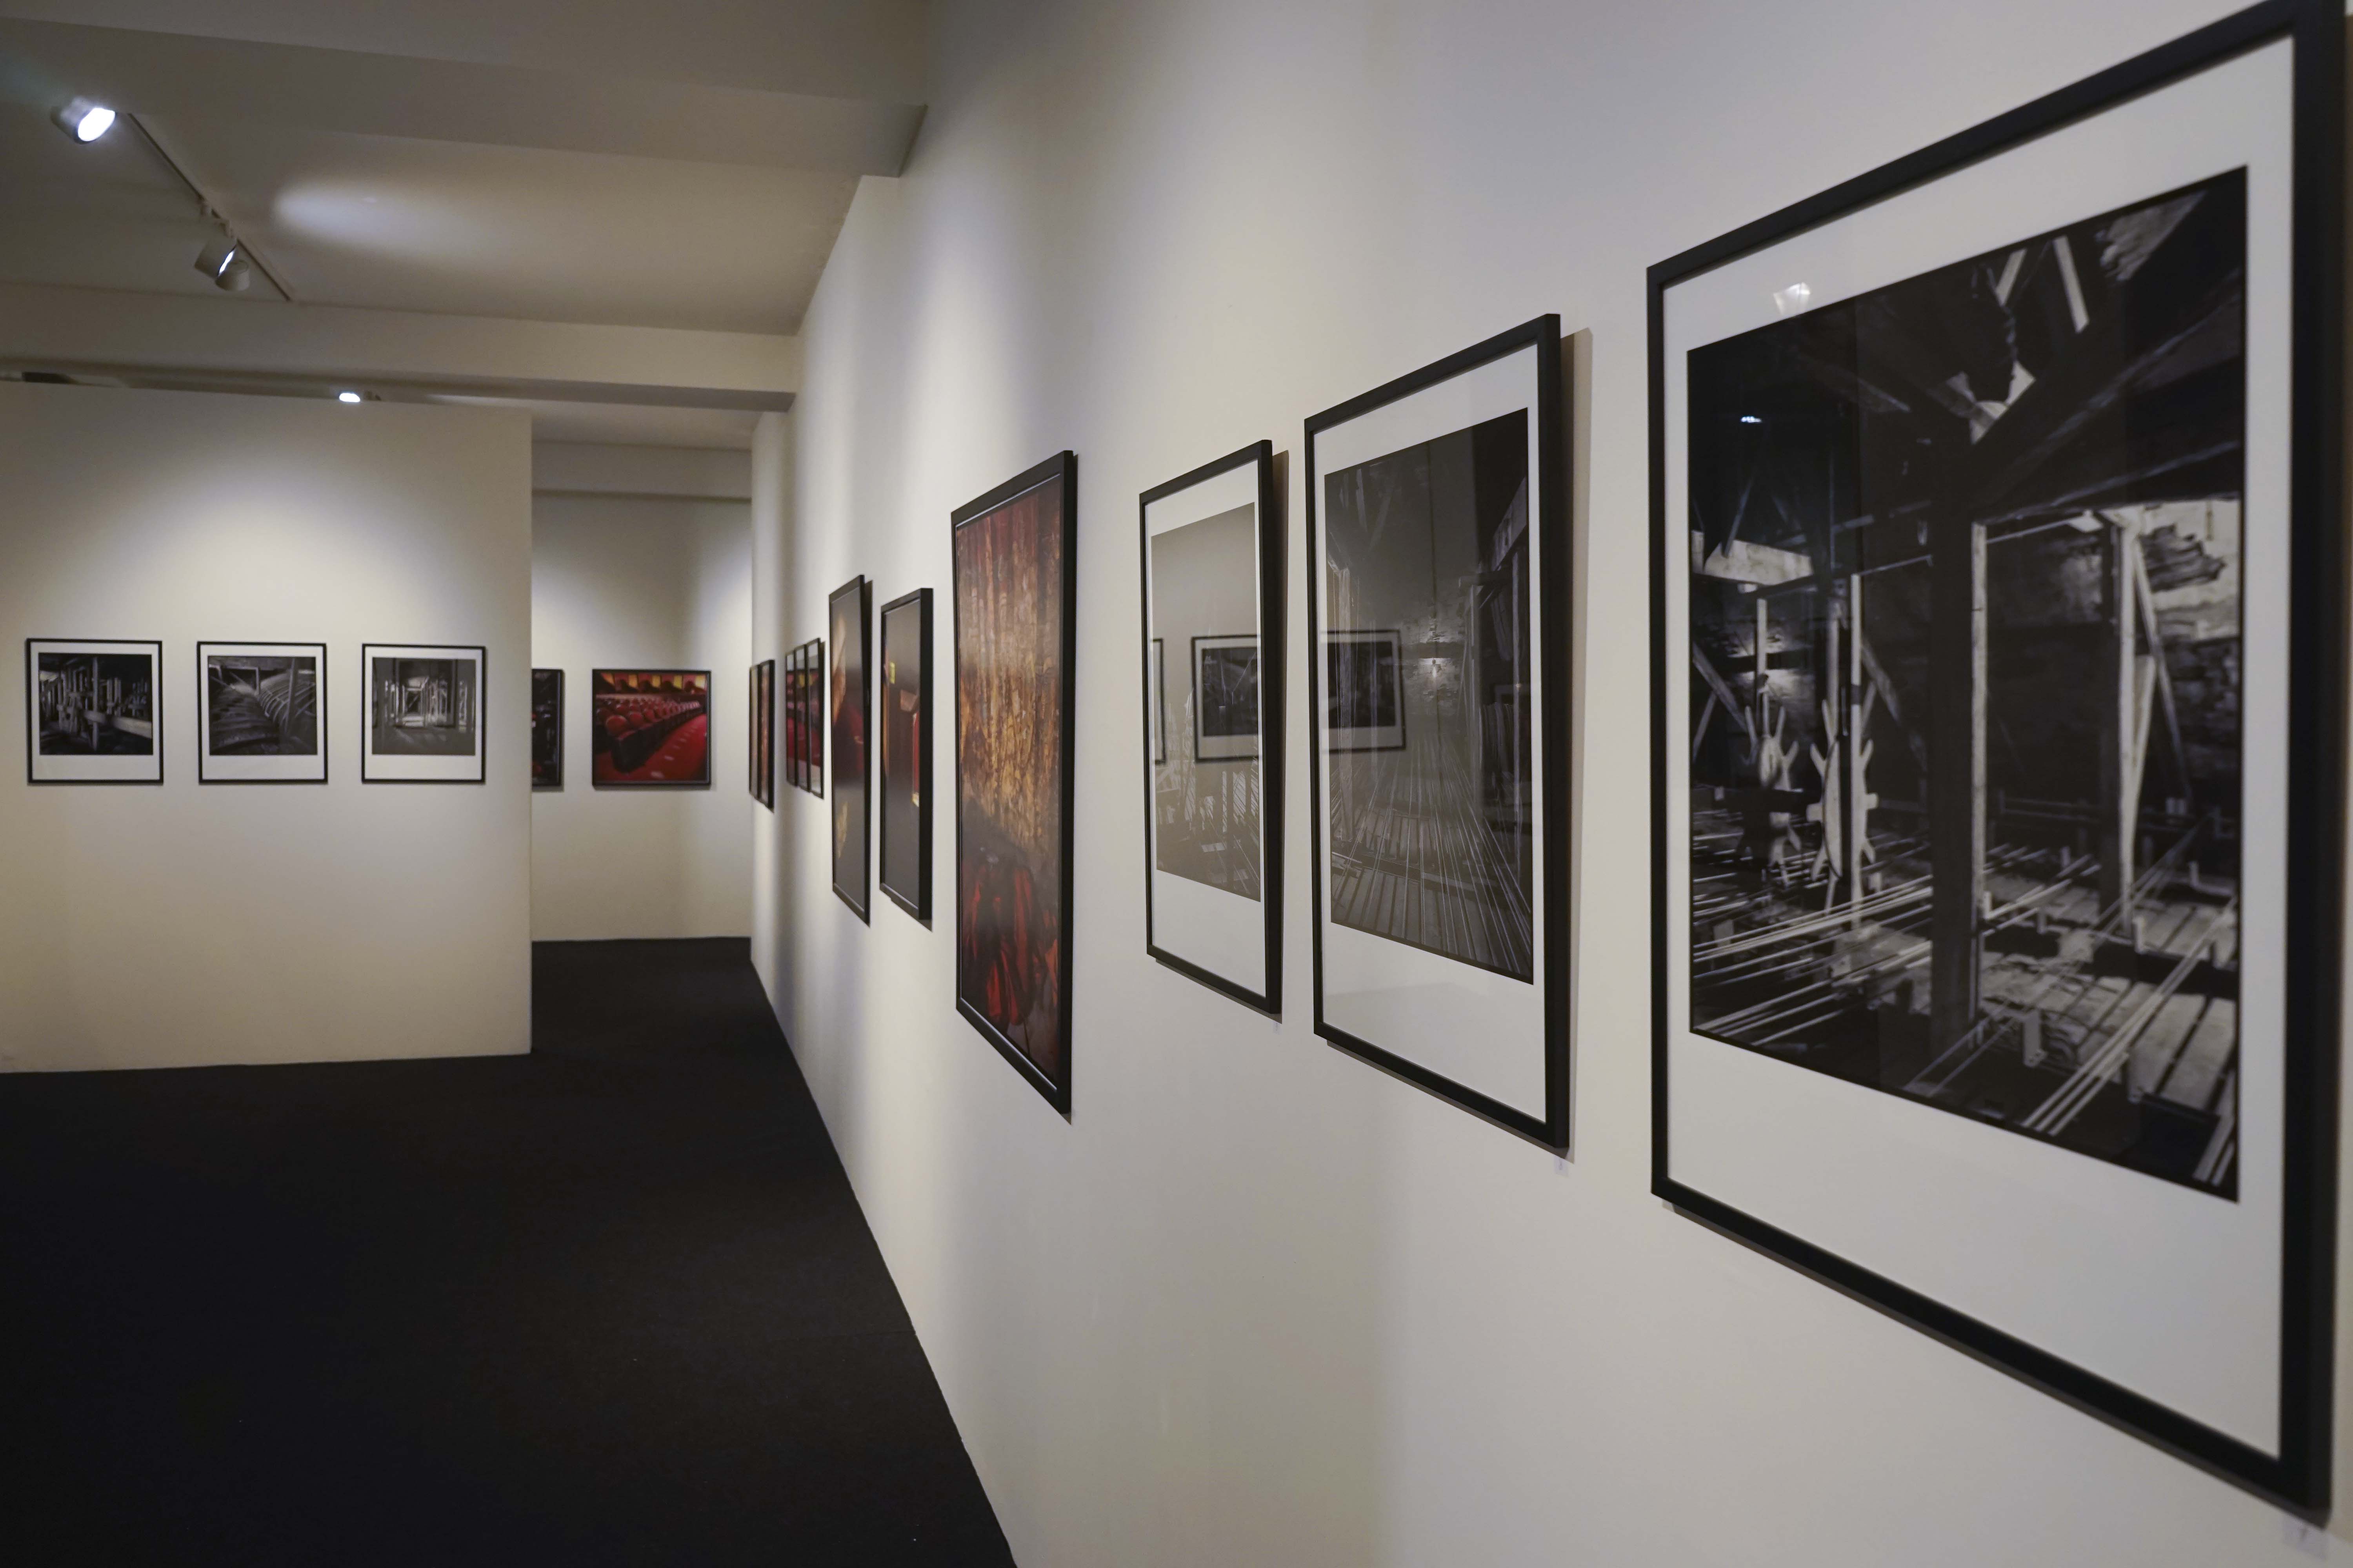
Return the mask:
<path id="1" fill-rule="evenodd" d="M 0 769 L 0 1067 L 529 1048 L 529 418 L 0 386 L 26 637 L 162 639 L 160 788 Z M 195 644 L 325 642 L 325 785 L 200 785 Z M 487 783 L 362 785 L 362 642 L 489 654 Z"/>

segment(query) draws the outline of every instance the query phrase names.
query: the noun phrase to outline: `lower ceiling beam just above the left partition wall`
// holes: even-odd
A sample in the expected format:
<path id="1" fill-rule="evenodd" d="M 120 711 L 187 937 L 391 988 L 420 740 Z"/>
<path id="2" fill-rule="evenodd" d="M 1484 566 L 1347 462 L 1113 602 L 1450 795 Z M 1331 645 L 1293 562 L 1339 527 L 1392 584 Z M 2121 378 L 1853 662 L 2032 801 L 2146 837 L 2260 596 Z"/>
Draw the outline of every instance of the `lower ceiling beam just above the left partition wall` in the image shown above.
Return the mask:
<path id="1" fill-rule="evenodd" d="M 791 409 L 800 339 L 0 284 L 0 369 Z"/>

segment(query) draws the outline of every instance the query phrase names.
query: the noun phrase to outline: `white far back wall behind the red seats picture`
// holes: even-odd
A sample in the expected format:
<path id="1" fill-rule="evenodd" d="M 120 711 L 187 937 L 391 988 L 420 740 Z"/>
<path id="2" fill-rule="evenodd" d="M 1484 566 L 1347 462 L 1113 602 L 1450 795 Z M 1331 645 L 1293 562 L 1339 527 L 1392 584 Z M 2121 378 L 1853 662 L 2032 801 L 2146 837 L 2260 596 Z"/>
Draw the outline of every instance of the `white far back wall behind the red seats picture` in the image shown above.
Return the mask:
<path id="1" fill-rule="evenodd" d="M 748 936 L 748 505 L 536 496 L 532 663 L 565 672 L 565 788 L 532 795 L 532 936 Z M 708 790 L 588 783 L 598 668 L 711 670 Z"/>

